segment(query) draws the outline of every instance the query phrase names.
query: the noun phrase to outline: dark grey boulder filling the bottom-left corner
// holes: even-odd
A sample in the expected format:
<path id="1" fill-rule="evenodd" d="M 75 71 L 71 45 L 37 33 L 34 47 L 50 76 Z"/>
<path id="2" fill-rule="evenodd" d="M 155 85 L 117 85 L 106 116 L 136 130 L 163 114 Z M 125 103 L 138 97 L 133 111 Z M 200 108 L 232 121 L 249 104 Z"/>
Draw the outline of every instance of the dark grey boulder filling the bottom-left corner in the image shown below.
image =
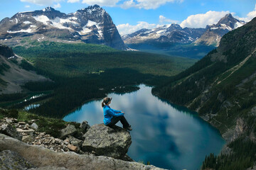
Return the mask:
<path id="1" fill-rule="evenodd" d="M 0 169 L 29 169 L 34 166 L 23 159 L 19 154 L 14 151 L 4 150 L 0 152 Z"/>

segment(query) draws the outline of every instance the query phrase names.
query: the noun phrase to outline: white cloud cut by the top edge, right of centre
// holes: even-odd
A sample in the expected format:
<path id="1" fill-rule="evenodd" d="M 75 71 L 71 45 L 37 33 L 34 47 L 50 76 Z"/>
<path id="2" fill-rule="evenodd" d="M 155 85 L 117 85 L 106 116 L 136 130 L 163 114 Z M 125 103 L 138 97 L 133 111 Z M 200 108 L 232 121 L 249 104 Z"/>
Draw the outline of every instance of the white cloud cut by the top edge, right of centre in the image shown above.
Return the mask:
<path id="1" fill-rule="evenodd" d="M 145 9 L 155 9 L 166 3 L 182 3 L 183 0 L 129 0 L 124 1 L 120 6 L 122 8 L 145 8 Z"/>

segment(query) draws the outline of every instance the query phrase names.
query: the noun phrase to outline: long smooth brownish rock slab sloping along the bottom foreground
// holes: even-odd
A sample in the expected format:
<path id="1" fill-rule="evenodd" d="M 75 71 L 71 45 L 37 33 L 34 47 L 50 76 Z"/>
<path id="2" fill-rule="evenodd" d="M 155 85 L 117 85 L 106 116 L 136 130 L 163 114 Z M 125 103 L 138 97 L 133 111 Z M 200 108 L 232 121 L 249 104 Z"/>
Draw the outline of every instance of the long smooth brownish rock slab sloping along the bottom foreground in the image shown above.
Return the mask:
<path id="1" fill-rule="evenodd" d="M 138 162 L 125 162 L 111 157 L 80 155 L 74 152 L 54 152 L 41 146 L 33 146 L 0 134 L 0 152 L 3 150 L 15 151 L 38 169 L 152 169 L 160 170 L 155 166 Z"/>

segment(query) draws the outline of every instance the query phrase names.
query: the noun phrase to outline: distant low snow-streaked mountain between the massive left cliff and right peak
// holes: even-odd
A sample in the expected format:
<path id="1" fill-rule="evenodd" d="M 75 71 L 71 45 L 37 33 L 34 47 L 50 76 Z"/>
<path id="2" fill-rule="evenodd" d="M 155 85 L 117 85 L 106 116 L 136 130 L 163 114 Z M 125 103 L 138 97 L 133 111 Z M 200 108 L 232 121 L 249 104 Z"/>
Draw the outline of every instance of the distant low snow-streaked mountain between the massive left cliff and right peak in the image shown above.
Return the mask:
<path id="1" fill-rule="evenodd" d="M 194 42 L 206 31 L 204 28 L 181 28 L 176 23 L 161 26 L 152 30 L 142 29 L 135 33 L 123 35 L 126 44 L 136 44 L 142 42 Z"/>

